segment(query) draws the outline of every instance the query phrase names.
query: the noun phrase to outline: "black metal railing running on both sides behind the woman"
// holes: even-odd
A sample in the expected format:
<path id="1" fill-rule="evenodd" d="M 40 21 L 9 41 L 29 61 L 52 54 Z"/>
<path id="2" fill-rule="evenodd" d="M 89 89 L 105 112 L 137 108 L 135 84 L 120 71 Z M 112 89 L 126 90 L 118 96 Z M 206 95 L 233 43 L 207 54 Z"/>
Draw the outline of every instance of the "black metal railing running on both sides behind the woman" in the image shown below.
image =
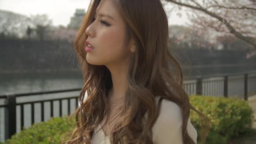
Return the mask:
<path id="1" fill-rule="evenodd" d="M 188 93 L 188 95 L 197 94 L 205 96 L 237 97 L 247 100 L 249 96 L 256 95 L 256 72 L 189 78 L 188 80 L 184 81 L 183 88 Z M 80 93 L 80 90 L 81 88 L 33 93 L 6 93 L 5 95 L 0 96 L 0 101 L 5 100 L 3 104 L 0 103 L 0 141 L 9 139 L 14 133 L 22 130 L 25 127 L 26 122 L 27 127 L 35 123 L 35 114 L 37 113 L 40 115 L 40 118 L 37 120 L 37 122 L 48 120 L 48 118 L 45 118 L 47 115 L 49 117 L 61 117 L 63 116 L 65 110 L 67 111 L 67 115 L 69 115 L 71 113 L 71 107 L 75 109 L 78 105 L 77 98 L 79 94 L 59 96 L 59 98 L 55 99 L 48 98 L 22 102 L 17 102 L 18 98 L 24 99 L 24 97 L 30 98 L 33 96 L 45 94 L 54 95 L 56 93 Z M 64 104 L 64 101 L 66 101 L 66 104 Z M 39 109 L 35 108 L 36 105 L 39 106 Z M 29 108 L 25 108 L 28 106 L 30 111 L 28 110 Z M 64 106 L 66 109 L 63 108 Z M 46 112 L 47 108 L 49 109 L 48 112 Z M 38 112 L 35 112 L 36 110 Z M 30 115 L 30 117 L 25 117 L 24 112 L 30 113 L 27 114 Z M 58 113 L 58 115 L 54 115 L 54 112 Z M 19 117 L 17 117 L 18 115 Z M 4 117 L 2 124 L 1 117 Z M 37 119 L 38 117 L 39 116 L 37 116 Z M 17 123 L 20 125 L 19 127 L 17 127 Z M 1 125 L 3 125 L 5 128 L 1 128 Z"/>

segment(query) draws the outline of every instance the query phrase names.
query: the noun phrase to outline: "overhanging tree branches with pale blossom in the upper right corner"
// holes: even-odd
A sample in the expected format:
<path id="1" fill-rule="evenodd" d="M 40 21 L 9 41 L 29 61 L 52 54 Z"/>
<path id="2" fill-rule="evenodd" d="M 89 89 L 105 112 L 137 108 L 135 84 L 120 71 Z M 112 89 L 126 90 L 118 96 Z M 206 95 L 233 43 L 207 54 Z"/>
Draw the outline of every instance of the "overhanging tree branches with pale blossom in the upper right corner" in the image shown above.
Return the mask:
<path id="1" fill-rule="evenodd" d="M 193 27 L 233 34 L 256 51 L 256 0 L 165 0 L 183 8 Z M 249 54 L 250 55 L 250 54 Z"/>

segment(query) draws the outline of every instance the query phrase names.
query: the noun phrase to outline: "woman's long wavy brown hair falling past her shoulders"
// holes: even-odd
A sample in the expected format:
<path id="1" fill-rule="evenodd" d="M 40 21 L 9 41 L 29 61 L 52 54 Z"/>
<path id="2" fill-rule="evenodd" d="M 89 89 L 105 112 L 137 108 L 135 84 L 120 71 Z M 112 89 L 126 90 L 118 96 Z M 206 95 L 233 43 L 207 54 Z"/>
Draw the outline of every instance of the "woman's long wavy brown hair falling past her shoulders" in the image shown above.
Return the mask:
<path id="1" fill-rule="evenodd" d="M 91 144 L 93 130 L 109 114 L 107 96 L 112 88 L 111 74 L 106 66 L 89 64 L 84 51 L 86 28 L 91 24 L 101 0 L 91 0 L 81 27 L 74 41 L 75 52 L 83 73 L 84 85 L 80 92 L 80 107 L 72 116 L 76 118 L 76 128 L 69 133 L 63 143 Z M 182 111 L 182 139 L 184 144 L 195 144 L 187 132 L 190 109 L 197 112 L 205 131 L 207 118 L 189 102 L 182 88 L 183 74 L 178 61 L 170 53 L 168 42 L 168 18 L 160 0 L 115 0 L 126 24 L 127 41 L 131 37 L 136 43 L 136 51 L 131 58 L 128 71 L 128 89 L 125 103 L 114 129 L 111 131 L 112 144 L 153 144 L 152 126 L 158 115 L 162 99 L 173 101 Z M 84 101 L 85 92 L 88 97 Z M 155 96 L 160 96 L 156 104 Z M 143 117 L 147 114 L 147 119 Z M 171 130 L 170 130 L 171 131 Z M 204 143 L 207 132 L 203 132 Z M 127 139 L 124 139 L 127 138 Z"/>

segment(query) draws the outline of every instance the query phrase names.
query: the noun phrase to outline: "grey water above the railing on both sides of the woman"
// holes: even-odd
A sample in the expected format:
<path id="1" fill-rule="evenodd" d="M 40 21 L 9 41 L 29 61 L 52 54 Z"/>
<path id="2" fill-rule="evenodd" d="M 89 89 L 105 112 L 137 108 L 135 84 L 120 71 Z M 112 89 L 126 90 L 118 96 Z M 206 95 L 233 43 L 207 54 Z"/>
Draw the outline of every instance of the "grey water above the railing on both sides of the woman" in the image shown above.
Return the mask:
<path id="1" fill-rule="evenodd" d="M 218 65 L 185 67 L 185 77 L 197 75 L 218 75 L 237 72 L 256 71 L 255 65 Z M 32 91 L 60 90 L 68 88 L 81 88 L 82 75 L 79 71 L 51 72 L 38 74 L 0 74 L 0 95 L 5 93 L 21 93 Z"/>

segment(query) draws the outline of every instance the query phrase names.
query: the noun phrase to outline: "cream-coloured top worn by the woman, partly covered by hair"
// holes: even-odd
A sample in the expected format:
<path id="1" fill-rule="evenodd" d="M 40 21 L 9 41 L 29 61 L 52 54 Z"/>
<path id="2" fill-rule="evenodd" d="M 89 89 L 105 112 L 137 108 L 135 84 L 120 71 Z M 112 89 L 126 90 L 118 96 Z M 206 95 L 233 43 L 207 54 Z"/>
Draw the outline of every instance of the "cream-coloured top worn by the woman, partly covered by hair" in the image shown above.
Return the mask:
<path id="1" fill-rule="evenodd" d="M 156 102 L 160 96 L 156 96 Z M 99 131 L 98 131 L 99 130 Z M 190 119 L 187 124 L 189 136 L 197 143 L 197 131 L 191 124 Z M 152 127 L 154 144 L 183 144 L 182 142 L 182 114 L 180 107 L 166 99 L 162 100 L 159 117 Z M 110 144 L 109 136 L 105 136 L 99 124 L 91 139 L 92 144 Z"/>

